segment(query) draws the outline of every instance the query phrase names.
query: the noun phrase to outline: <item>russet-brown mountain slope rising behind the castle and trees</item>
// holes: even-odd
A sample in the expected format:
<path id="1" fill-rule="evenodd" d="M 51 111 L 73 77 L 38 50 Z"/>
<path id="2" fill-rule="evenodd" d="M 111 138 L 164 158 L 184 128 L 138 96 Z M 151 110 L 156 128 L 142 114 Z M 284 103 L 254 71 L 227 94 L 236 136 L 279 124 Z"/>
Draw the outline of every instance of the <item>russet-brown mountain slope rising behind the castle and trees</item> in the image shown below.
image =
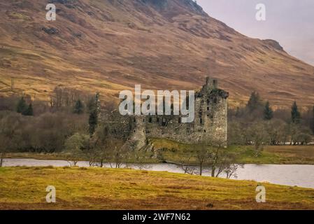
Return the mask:
<path id="1" fill-rule="evenodd" d="M 45 20 L 45 5 L 57 20 Z M 1 1 L 0 93 L 46 99 L 57 85 L 101 92 L 104 100 L 142 84 L 199 88 L 220 80 L 231 104 L 257 90 L 276 106 L 314 103 L 314 68 L 276 41 L 248 38 L 191 0 Z"/>

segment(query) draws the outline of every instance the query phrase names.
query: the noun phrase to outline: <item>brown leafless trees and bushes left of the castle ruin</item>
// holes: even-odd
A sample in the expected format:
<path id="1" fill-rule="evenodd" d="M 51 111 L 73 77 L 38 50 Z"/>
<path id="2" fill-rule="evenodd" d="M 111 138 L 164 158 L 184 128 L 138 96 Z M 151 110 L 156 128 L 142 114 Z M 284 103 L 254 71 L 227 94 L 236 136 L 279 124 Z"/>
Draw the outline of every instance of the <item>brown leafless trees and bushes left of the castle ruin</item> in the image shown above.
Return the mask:
<path id="1" fill-rule="evenodd" d="M 17 152 L 64 153 L 72 165 L 89 160 L 101 167 L 147 158 L 145 152 L 132 151 L 135 143 L 113 137 L 109 128 L 99 123 L 94 95 L 57 87 L 49 104 L 27 95 L 0 98 L 0 166 L 5 153 Z"/>

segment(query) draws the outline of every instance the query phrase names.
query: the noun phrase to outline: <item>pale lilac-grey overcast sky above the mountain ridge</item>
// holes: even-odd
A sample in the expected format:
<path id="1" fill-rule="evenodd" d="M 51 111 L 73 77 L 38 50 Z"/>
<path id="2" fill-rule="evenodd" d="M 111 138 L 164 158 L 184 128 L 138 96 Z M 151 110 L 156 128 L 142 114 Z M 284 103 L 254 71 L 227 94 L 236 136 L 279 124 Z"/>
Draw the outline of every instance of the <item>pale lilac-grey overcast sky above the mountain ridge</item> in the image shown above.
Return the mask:
<path id="1" fill-rule="evenodd" d="M 211 17 L 253 38 L 271 38 L 290 55 L 314 65 L 314 0 L 197 0 Z M 257 3 L 266 21 L 257 21 Z"/>

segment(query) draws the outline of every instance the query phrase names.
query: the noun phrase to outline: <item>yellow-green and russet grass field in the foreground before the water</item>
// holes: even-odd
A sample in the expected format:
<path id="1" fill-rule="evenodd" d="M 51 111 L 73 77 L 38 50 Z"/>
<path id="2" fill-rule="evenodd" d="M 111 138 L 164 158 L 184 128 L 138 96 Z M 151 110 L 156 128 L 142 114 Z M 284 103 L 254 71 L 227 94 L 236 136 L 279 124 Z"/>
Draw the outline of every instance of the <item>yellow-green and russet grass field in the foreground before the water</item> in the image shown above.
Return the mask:
<path id="1" fill-rule="evenodd" d="M 0 168 L 0 209 L 314 209 L 314 189 L 131 169 Z M 57 202 L 45 201 L 55 186 Z"/>

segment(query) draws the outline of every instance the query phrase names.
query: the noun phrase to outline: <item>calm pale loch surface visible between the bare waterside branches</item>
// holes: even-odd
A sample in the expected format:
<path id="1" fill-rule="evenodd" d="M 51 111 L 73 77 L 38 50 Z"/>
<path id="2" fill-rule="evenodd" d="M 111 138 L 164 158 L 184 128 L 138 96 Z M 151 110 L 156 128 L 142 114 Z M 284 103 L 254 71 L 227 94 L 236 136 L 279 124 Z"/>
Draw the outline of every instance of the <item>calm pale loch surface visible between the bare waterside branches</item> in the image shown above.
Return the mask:
<path id="1" fill-rule="evenodd" d="M 78 162 L 79 167 L 89 167 L 88 162 Z M 32 159 L 5 159 L 3 167 L 65 167 L 70 166 L 69 162 L 63 160 L 32 160 Z M 106 164 L 110 167 L 110 164 Z M 114 167 L 115 165 L 112 164 Z M 172 164 L 151 164 L 140 167 L 138 165 L 129 165 L 134 169 L 145 169 L 160 172 L 184 173 L 180 166 Z M 197 174 L 197 167 L 195 173 Z M 205 169 L 204 176 L 210 174 Z M 224 175 L 222 175 L 224 177 Z M 299 186 L 304 188 L 314 188 L 314 165 L 243 165 L 236 171 L 238 180 L 267 181 L 286 186 Z"/>

